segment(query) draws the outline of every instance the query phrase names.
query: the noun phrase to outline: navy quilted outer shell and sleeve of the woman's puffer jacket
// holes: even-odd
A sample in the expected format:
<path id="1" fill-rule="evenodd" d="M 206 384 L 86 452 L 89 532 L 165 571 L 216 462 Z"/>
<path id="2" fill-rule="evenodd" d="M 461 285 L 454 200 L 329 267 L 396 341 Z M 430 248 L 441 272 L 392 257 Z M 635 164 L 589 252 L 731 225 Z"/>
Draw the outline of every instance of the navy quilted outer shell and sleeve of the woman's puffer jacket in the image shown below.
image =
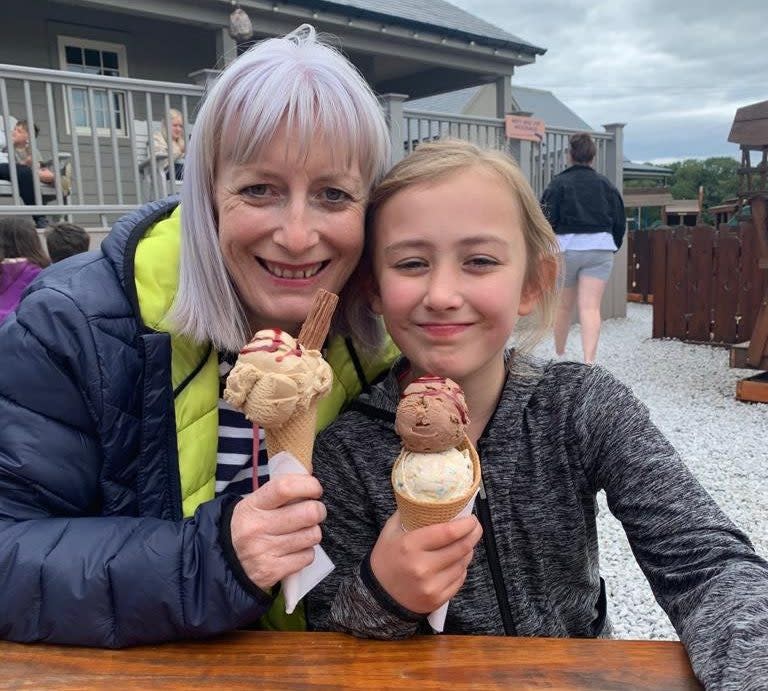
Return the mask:
<path id="1" fill-rule="evenodd" d="M 0 637 L 120 647 L 263 614 L 219 541 L 232 498 L 184 519 L 170 337 L 137 316 L 133 252 L 175 202 L 45 270 L 0 328 Z"/>

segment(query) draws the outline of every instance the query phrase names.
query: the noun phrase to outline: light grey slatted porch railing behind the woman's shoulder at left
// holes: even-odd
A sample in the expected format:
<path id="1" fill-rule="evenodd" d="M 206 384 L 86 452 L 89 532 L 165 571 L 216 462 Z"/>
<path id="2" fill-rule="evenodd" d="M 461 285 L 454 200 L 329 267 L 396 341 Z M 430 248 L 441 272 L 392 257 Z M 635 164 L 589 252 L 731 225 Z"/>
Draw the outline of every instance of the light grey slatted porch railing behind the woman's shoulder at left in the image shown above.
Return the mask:
<path id="1" fill-rule="evenodd" d="M 98 218 L 107 226 L 108 217 L 173 192 L 165 174 L 174 169 L 173 153 L 168 160 L 156 151 L 152 134 L 164 119 L 170 131 L 168 112 L 174 108 L 182 113 L 188 136 L 202 94 L 203 87 L 194 84 L 0 65 L 0 128 L 10 159 L 11 123 L 25 119 L 33 151 L 39 148 L 43 159 L 51 154 L 57 168 L 50 189 L 33 176 L 36 203 L 29 206 L 19 197 L 10 166 L 11 179 L 0 181 L 0 215 L 65 214 L 90 223 Z"/>

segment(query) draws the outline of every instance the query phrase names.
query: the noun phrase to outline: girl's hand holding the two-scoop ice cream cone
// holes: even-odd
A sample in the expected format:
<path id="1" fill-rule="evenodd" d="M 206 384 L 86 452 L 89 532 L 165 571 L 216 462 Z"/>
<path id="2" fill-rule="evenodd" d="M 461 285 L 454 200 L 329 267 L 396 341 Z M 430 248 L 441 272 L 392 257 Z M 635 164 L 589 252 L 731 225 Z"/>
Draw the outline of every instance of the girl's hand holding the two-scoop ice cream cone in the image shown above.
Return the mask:
<path id="1" fill-rule="evenodd" d="M 396 602 L 426 614 L 461 588 L 482 534 L 474 516 L 406 533 L 395 512 L 371 552 L 371 570 Z"/>

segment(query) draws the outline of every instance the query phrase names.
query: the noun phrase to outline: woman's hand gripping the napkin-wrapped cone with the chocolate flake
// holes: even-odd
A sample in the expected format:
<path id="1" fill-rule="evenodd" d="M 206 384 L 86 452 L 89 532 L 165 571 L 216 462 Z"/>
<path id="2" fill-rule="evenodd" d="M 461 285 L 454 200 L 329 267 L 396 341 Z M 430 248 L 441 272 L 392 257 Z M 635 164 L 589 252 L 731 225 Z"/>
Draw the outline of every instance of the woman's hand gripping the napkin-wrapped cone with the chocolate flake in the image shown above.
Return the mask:
<path id="1" fill-rule="evenodd" d="M 232 546 L 243 570 L 266 590 L 312 563 L 322 537 L 323 490 L 311 475 L 270 480 L 238 502 L 232 512 Z"/>

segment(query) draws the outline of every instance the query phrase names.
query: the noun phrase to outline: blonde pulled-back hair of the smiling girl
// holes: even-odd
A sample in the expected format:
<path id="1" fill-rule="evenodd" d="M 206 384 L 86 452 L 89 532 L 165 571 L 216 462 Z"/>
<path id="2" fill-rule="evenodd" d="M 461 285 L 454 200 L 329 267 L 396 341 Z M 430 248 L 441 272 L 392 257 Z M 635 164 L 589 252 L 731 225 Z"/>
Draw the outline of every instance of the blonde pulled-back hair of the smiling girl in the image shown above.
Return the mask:
<path id="1" fill-rule="evenodd" d="M 525 329 L 518 346 L 530 349 L 550 328 L 557 304 L 557 272 L 559 246 L 552 226 L 541 210 L 517 163 L 501 151 L 481 149 L 459 139 L 444 139 L 420 144 L 412 154 L 397 163 L 371 193 L 366 215 L 365 248 L 355 275 L 351 279 L 358 290 L 357 300 L 349 305 L 348 322 L 355 336 L 368 348 L 375 349 L 383 336 L 380 320 L 370 312 L 373 273 L 373 233 L 378 212 L 398 192 L 420 184 L 432 184 L 471 168 L 496 175 L 507 187 L 520 208 L 527 255 L 524 290 L 538 294 L 536 318 L 527 319 L 533 329 Z"/>

